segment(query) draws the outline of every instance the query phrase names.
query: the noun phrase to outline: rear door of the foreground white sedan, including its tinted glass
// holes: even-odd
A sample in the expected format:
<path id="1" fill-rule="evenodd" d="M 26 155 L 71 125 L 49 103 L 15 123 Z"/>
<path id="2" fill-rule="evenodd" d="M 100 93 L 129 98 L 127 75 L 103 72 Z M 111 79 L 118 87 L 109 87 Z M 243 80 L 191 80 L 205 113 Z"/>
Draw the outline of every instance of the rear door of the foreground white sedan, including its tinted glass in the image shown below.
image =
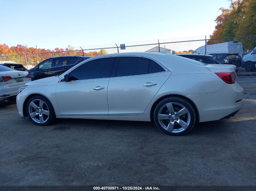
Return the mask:
<path id="1" fill-rule="evenodd" d="M 171 72 L 144 57 L 120 56 L 108 83 L 110 116 L 141 115 Z"/>

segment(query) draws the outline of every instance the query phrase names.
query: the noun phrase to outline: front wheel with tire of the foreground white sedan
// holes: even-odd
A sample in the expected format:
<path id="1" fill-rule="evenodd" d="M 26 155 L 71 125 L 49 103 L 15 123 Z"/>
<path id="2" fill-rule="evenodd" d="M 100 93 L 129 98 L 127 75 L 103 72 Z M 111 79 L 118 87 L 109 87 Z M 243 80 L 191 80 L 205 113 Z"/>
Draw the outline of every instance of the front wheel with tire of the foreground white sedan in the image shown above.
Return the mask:
<path id="1" fill-rule="evenodd" d="M 49 125 L 55 119 L 52 104 L 43 96 L 36 95 L 31 97 L 28 100 L 26 109 L 29 119 L 37 125 Z"/>

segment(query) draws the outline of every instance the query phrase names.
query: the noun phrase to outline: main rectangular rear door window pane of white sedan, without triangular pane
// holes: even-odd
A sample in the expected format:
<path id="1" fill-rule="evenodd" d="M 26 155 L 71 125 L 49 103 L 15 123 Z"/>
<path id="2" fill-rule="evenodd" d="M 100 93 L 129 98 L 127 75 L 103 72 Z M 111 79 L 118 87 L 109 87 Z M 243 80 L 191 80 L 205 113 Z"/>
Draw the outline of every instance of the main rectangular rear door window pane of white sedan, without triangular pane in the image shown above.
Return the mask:
<path id="1" fill-rule="evenodd" d="M 132 76 L 148 73 L 149 59 L 141 57 L 117 57 L 116 76 Z"/>

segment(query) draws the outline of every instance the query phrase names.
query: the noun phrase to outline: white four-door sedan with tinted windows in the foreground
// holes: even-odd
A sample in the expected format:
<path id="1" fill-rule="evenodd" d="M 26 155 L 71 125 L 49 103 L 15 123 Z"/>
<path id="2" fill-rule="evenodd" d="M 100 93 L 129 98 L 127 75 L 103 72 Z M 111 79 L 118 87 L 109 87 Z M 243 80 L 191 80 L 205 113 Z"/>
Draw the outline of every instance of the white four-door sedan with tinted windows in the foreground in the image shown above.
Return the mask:
<path id="1" fill-rule="evenodd" d="M 18 113 L 37 125 L 55 118 L 154 121 L 171 135 L 234 116 L 243 99 L 234 65 L 161 53 L 96 56 L 19 91 Z"/>

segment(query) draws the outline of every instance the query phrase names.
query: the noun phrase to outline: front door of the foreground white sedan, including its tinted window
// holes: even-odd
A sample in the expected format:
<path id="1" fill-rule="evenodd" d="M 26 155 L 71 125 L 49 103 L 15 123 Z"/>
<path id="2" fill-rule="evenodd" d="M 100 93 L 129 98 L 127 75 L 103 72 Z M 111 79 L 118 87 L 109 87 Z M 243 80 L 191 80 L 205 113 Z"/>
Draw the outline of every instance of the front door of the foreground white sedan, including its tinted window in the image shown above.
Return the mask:
<path id="1" fill-rule="evenodd" d="M 108 116 L 108 81 L 115 57 L 94 59 L 72 70 L 60 81 L 56 99 L 62 116 Z"/>

